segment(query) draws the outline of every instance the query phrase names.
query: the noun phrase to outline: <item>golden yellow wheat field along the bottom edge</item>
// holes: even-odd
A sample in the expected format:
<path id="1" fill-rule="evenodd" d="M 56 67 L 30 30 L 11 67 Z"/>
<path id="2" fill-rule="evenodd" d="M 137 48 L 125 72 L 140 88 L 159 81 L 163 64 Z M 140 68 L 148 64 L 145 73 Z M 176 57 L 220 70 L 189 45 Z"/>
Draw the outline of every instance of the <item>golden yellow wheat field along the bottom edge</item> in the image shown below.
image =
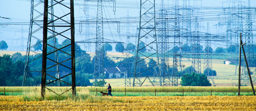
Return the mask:
<path id="1" fill-rule="evenodd" d="M 22 101 L 0 96 L 0 111 L 255 111 L 255 96 L 136 96 L 90 100 Z M 93 98 L 91 98 L 93 99 Z M 95 98 L 94 98 L 95 99 Z"/>

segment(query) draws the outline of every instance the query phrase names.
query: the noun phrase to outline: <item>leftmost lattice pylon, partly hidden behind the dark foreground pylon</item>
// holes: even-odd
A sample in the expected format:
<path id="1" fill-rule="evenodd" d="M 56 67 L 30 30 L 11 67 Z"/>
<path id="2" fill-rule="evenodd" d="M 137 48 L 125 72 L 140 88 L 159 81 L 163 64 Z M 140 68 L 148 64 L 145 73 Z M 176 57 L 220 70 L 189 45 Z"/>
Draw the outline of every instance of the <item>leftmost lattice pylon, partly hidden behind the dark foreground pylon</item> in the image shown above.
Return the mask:
<path id="1" fill-rule="evenodd" d="M 33 66 L 35 62 L 41 62 L 42 54 L 37 52 L 36 47 L 40 47 L 41 43 L 43 43 L 41 32 L 43 32 L 43 4 L 44 2 L 37 2 L 36 0 L 31 0 L 31 12 L 30 12 L 30 28 L 28 34 L 28 44 L 26 50 L 26 62 L 24 67 L 24 76 L 23 76 L 23 83 L 22 86 L 32 86 L 32 85 L 39 85 L 39 76 L 41 75 L 41 67 Z M 53 0 L 50 0 L 50 6 L 53 5 Z M 48 16 L 48 21 L 53 21 L 54 19 L 54 10 L 53 6 L 48 8 L 48 12 L 51 13 Z M 54 26 L 54 22 L 50 23 Z M 54 52 L 54 60 L 56 62 L 59 61 L 58 53 L 56 51 L 56 35 L 55 35 L 55 28 L 51 27 L 51 30 L 48 30 L 48 36 L 52 36 L 48 40 L 48 44 L 50 44 L 53 48 Z M 39 42 L 37 42 L 39 41 Z M 37 42 L 37 43 L 35 43 Z M 42 47 L 40 47 L 42 48 Z M 38 49 L 38 48 L 37 48 Z M 34 57 L 33 54 L 36 54 Z M 31 57 L 30 57 L 31 56 Z M 52 72 L 55 73 L 54 77 L 60 78 L 59 75 L 59 64 L 57 64 L 55 70 Z M 32 79 L 31 76 L 35 76 L 36 79 Z M 29 84 L 28 84 L 29 83 Z M 60 86 L 60 81 L 57 82 L 57 86 Z"/>

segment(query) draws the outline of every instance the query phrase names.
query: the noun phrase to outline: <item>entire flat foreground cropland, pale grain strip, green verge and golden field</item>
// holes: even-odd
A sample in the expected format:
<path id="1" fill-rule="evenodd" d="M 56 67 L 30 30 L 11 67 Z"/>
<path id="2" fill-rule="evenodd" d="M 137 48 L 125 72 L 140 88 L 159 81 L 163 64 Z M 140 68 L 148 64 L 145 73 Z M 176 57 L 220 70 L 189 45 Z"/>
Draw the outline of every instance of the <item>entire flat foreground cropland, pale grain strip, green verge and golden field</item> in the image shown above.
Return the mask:
<path id="1" fill-rule="evenodd" d="M 48 88 L 57 93 L 68 89 L 68 87 Z M 96 88 L 97 96 L 95 96 Z M 99 92 L 104 89 L 106 88 L 77 87 L 76 97 L 73 97 L 71 92 L 57 96 L 46 90 L 43 99 L 40 95 L 40 87 L 0 87 L 0 111 L 252 111 L 256 109 L 256 96 L 234 96 L 237 87 L 113 87 L 114 96 L 100 96 Z M 8 96 L 3 95 L 4 90 Z M 156 96 L 154 96 L 155 90 Z M 209 96 L 210 90 L 215 91 L 213 95 L 222 96 Z M 126 96 L 124 96 L 125 91 Z M 184 96 L 182 96 L 183 91 Z M 252 95 L 250 87 L 242 87 L 241 91 L 243 95 Z"/>

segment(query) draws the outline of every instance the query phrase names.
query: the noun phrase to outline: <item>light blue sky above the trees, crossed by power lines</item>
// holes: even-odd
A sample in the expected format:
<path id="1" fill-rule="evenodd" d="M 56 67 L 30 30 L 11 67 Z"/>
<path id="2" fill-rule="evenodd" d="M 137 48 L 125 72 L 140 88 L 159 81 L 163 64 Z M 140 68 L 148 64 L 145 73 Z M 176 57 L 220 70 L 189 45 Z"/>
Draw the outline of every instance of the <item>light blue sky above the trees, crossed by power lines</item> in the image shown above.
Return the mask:
<path id="1" fill-rule="evenodd" d="M 224 3 L 224 1 L 228 0 L 197 0 L 190 2 L 191 6 L 196 7 L 218 7 L 228 6 L 228 3 Z M 243 4 L 247 6 L 248 0 L 242 0 Z M 113 3 L 105 2 L 103 3 L 104 11 L 103 17 L 107 19 L 114 20 L 120 17 L 126 17 L 129 13 L 130 17 L 139 17 L 139 2 L 140 0 L 116 0 L 116 12 L 113 12 Z M 160 8 L 161 0 L 156 0 L 156 10 Z M 169 8 L 173 6 L 173 0 L 164 0 L 165 7 Z M 87 38 L 95 38 L 95 24 L 91 24 L 89 26 L 89 30 L 84 26 L 82 26 L 82 32 L 79 30 L 79 21 L 85 20 L 85 15 L 89 13 L 89 19 L 93 19 L 97 14 L 96 2 L 88 2 L 87 6 L 89 6 L 89 11 L 84 11 L 85 6 L 83 5 L 83 0 L 74 0 L 75 4 L 75 34 L 76 41 L 85 40 Z M 182 0 L 180 0 L 179 5 L 182 6 Z M 230 4 L 232 5 L 232 4 Z M 251 6 L 256 6 L 256 0 L 251 0 Z M 0 41 L 4 40 L 7 42 L 9 48 L 8 51 L 26 51 L 27 39 L 28 39 L 28 30 L 29 30 L 29 21 L 30 21 L 30 0 L 0 0 L 0 17 L 10 18 L 4 19 L 0 18 Z M 216 9 L 221 11 L 221 9 Z M 215 9 L 202 9 L 202 12 L 211 12 L 216 11 Z M 54 13 L 62 13 L 61 10 L 54 10 Z M 211 17 L 211 16 L 210 16 Z M 22 22 L 22 23 L 21 23 Z M 206 24 L 209 23 L 210 32 L 211 33 L 219 33 L 223 29 L 216 28 L 214 25 L 218 23 L 218 21 L 201 21 L 200 30 L 202 32 L 206 31 Z M 9 24 L 9 25 L 8 25 Z M 104 25 L 104 35 L 108 39 L 122 41 L 125 43 L 132 42 L 135 43 L 135 39 L 127 40 L 127 25 L 129 25 L 129 35 L 135 36 L 136 28 L 139 23 L 130 23 L 130 24 L 120 24 L 120 33 L 117 32 L 117 23 L 110 23 Z M 85 36 L 86 33 L 89 32 L 89 36 Z M 36 41 L 34 41 L 36 42 Z M 61 43 L 61 40 L 59 40 Z M 23 45 L 23 46 L 21 46 Z M 115 45 L 111 44 L 113 49 L 115 49 Z M 217 47 L 218 45 L 223 45 L 221 43 L 213 43 L 213 47 Z M 22 49 L 21 49 L 22 47 Z M 83 47 L 85 50 L 89 52 L 93 52 L 95 48 L 93 44 L 91 47 Z M 113 50 L 115 52 L 115 50 Z"/>

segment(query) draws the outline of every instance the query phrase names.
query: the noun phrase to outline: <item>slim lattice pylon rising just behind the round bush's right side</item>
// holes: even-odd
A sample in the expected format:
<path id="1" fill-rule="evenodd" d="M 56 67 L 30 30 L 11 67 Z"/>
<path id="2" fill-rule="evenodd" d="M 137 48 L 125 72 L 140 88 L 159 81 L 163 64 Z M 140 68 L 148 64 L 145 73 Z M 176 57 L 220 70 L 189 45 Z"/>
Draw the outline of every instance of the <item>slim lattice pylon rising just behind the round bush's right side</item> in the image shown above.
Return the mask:
<path id="1" fill-rule="evenodd" d="M 204 70 L 206 70 L 206 76 L 208 80 L 212 81 L 213 84 L 214 82 L 214 77 L 213 77 L 213 71 L 210 72 L 210 70 L 213 70 L 213 65 L 212 65 L 212 55 L 210 53 L 210 48 L 211 48 L 211 36 L 210 34 L 210 29 L 209 29 L 209 23 L 207 23 L 207 33 L 205 35 L 205 44 L 204 48 L 207 48 L 205 55 L 204 55 Z"/>

